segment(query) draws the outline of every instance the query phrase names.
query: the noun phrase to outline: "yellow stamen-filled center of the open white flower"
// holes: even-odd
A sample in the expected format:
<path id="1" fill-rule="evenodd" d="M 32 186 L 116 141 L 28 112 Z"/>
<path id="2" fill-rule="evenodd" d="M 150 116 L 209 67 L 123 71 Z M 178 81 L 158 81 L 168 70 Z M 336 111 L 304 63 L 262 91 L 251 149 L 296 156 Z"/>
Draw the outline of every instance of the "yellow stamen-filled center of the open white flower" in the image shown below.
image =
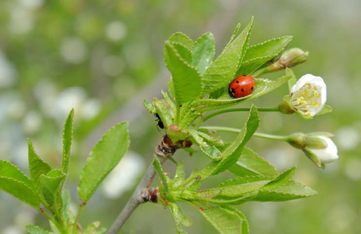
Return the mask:
<path id="1" fill-rule="evenodd" d="M 313 117 L 310 108 L 318 108 L 321 106 L 321 95 L 317 86 L 311 83 L 305 83 L 299 90 L 291 94 L 292 106 L 302 111 L 305 115 Z"/>

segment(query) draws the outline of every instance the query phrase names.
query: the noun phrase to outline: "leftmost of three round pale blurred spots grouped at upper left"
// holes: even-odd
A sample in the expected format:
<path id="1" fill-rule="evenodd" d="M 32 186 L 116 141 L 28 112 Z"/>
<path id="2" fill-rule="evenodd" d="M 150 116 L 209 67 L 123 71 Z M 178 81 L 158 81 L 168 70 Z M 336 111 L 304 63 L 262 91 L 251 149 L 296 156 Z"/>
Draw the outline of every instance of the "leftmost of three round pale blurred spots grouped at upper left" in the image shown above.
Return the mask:
<path id="1" fill-rule="evenodd" d="M 60 53 L 65 61 L 80 63 L 86 57 L 86 46 L 80 38 L 66 38 L 61 44 Z"/>

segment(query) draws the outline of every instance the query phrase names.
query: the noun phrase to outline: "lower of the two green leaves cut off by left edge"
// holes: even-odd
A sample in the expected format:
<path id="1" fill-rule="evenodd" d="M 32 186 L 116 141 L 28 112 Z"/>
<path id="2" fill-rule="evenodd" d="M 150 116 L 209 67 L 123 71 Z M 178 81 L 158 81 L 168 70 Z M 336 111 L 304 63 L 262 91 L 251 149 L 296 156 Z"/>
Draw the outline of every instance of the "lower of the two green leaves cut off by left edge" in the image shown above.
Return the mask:
<path id="1" fill-rule="evenodd" d="M 40 201 L 34 190 L 25 183 L 14 178 L 0 176 L 0 189 L 23 201 L 35 209 L 39 209 Z"/>

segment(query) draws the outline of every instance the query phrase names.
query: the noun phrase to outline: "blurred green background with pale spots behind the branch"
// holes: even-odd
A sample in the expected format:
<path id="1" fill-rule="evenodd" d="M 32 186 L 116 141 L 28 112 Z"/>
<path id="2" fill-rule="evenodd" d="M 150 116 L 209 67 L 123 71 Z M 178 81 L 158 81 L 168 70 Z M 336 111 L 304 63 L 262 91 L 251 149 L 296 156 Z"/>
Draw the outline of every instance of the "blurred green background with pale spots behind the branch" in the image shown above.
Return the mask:
<path id="1" fill-rule="evenodd" d="M 162 136 L 141 100 L 160 96 L 169 74 L 163 64 L 163 41 L 181 31 L 192 39 L 211 31 L 219 54 L 238 22 L 251 16 L 251 44 L 294 36 L 290 47 L 309 51 L 294 69 L 299 78 L 324 78 L 331 114 L 303 121 L 297 115 L 261 113 L 259 131 L 286 135 L 328 131 L 340 159 L 325 170 L 283 142 L 252 139 L 248 146 L 279 170 L 297 166 L 296 180 L 318 195 L 282 203 L 250 202 L 239 209 L 253 234 L 361 233 L 361 1 L 344 0 L 1 0 L 0 1 L 0 158 L 27 173 L 26 137 L 53 166 L 61 160 L 61 129 L 75 108 L 75 142 L 65 187 L 80 201 L 76 186 L 85 158 L 101 135 L 117 122 L 130 120 L 131 151 L 86 206 L 80 222 L 100 220 L 109 227 L 152 159 Z M 271 74 L 275 78 L 280 74 Z M 274 106 L 286 87 L 255 101 Z M 249 106 L 246 103 L 243 106 Z M 239 127 L 245 113 L 224 114 L 207 125 Z M 224 139 L 234 135 L 224 134 Z M 177 152 L 188 173 L 209 160 Z M 165 171 L 173 173 L 167 162 Z M 223 173 L 204 186 L 232 175 Z M 158 183 L 155 180 L 154 184 Z M 194 225 L 189 233 L 216 233 L 195 210 L 185 212 Z M 47 221 L 20 201 L 0 192 L 0 233 L 24 234 L 27 223 L 48 228 Z M 120 233 L 176 233 L 170 212 L 145 204 Z"/>

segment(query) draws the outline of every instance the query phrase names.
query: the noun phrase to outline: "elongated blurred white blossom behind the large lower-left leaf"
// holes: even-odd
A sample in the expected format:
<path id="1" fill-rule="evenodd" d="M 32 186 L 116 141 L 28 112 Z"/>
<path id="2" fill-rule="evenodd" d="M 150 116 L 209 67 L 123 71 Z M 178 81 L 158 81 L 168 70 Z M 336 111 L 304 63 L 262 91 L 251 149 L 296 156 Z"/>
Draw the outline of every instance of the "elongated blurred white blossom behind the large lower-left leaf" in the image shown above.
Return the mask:
<path id="1" fill-rule="evenodd" d="M 143 173 L 144 159 L 135 152 L 128 151 L 113 171 L 104 179 L 102 190 L 109 198 L 118 198 L 132 189 L 137 178 Z"/>

